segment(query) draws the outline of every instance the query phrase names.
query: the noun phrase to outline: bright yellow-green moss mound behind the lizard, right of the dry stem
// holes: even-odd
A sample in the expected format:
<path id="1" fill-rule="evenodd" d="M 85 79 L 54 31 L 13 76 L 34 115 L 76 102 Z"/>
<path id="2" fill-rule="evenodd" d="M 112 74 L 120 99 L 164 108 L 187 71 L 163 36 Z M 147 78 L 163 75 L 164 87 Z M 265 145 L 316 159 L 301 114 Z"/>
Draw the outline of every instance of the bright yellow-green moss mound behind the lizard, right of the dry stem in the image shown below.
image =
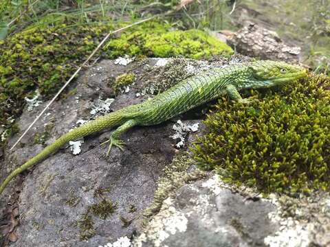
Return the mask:
<path id="1" fill-rule="evenodd" d="M 116 56 L 210 58 L 230 56 L 232 49 L 225 43 L 200 30 L 171 31 L 170 25 L 148 22 L 110 40 L 105 47 L 109 58 Z"/>

